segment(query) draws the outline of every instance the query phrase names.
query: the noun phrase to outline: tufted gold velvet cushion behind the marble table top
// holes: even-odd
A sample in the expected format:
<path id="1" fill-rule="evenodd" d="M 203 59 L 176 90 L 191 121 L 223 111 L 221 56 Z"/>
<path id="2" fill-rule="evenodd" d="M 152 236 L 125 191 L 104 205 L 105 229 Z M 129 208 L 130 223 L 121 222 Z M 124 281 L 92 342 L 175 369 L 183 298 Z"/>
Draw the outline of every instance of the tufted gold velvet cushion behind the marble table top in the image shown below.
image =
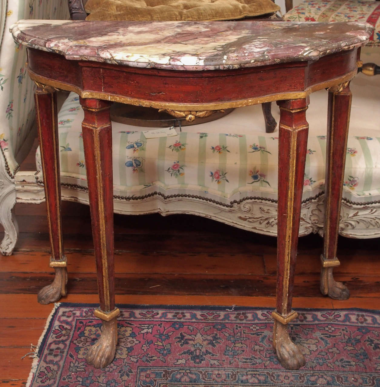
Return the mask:
<path id="1" fill-rule="evenodd" d="M 232 20 L 279 9 L 271 0 L 88 0 L 86 20 Z"/>

